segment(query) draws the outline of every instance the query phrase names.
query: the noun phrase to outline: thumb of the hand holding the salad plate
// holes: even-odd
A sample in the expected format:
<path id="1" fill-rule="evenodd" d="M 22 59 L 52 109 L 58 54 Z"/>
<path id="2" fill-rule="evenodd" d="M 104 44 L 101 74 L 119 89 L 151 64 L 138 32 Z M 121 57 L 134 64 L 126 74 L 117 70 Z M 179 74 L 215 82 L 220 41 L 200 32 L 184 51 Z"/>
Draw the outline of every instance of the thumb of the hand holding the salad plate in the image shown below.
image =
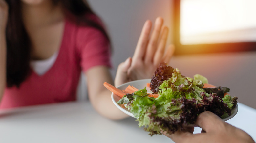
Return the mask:
<path id="1" fill-rule="evenodd" d="M 199 114 L 196 120 L 196 125 L 201 127 L 205 132 L 211 132 L 218 129 L 223 123 L 224 121 L 219 116 L 210 111 L 205 111 Z"/>

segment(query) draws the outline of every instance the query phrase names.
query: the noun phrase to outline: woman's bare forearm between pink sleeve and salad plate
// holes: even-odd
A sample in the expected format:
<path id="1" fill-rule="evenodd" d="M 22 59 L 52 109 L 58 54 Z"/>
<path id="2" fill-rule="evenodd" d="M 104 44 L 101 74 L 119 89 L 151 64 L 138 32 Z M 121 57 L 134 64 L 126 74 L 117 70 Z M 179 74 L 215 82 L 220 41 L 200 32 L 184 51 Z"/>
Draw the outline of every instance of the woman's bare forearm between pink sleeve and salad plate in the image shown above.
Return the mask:
<path id="1" fill-rule="evenodd" d="M 88 82 L 88 95 L 94 109 L 102 116 L 109 119 L 124 119 L 128 117 L 119 110 L 111 99 L 111 92 L 103 86 L 104 82 L 113 84 L 109 68 L 95 66 L 86 73 Z"/>

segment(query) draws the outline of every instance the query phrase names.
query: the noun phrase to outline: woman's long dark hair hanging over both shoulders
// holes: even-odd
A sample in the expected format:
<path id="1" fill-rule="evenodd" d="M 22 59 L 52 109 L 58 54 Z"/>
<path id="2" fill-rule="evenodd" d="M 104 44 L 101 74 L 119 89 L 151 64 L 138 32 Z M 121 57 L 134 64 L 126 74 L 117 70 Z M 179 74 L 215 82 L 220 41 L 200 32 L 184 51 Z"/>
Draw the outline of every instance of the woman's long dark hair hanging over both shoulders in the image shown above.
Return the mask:
<path id="1" fill-rule="evenodd" d="M 98 22 L 85 15 L 96 15 L 84 0 L 52 0 L 53 4 L 60 4 L 66 15 L 73 22 L 91 26 L 100 30 L 106 38 L 109 37 Z M 7 42 L 7 87 L 17 86 L 30 74 L 31 41 L 24 27 L 21 16 L 21 1 L 6 0 L 9 5 L 9 15 L 6 27 Z M 71 15 L 71 16 L 70 16 Z M 110 41 L 110 40 L 109 40 Z"/>

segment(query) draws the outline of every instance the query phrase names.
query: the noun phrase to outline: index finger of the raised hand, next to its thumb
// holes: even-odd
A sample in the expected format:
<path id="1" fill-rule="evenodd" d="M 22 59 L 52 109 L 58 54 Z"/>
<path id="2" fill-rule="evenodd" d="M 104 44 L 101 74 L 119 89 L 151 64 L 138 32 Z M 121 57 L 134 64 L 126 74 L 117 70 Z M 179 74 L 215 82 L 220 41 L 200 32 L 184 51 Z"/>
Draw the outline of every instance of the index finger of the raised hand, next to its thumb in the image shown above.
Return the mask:
<path id="1" fill-rule="evenodd" d="M 147 20 L 142 28 L 135 52 L 133 54 L 133 59 L 135 61 L 137 61 L 138 59 L 142 59 L 145 55 L 146 47 L 148 44 L 148 37 L 151 31 L 151 26 L 151 21 Z"/>

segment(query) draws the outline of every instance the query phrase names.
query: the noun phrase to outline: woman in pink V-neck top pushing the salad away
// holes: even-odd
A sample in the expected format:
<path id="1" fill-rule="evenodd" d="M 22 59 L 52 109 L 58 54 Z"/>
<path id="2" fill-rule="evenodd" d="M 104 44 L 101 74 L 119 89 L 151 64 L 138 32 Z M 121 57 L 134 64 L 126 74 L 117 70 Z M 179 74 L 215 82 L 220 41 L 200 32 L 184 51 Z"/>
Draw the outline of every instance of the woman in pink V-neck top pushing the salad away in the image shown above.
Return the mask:
<path id="1" fill-rule="evenodd" d="M 103 86 L 113 84 L 110 42 L 87 3 L 0 0 L 0 20 L 0 108 L 74 101 L 83 71 L 96 111 L 110 119 L 127 116 Z M 160 62 L 170 60 L 174 48 L 165 49 L 168 28 L 162 24 L 157 18 L 149 37 L 152 24 L 146 21 L 134 56 L 118 66 L 115 86 L 150 78 Z"/>

